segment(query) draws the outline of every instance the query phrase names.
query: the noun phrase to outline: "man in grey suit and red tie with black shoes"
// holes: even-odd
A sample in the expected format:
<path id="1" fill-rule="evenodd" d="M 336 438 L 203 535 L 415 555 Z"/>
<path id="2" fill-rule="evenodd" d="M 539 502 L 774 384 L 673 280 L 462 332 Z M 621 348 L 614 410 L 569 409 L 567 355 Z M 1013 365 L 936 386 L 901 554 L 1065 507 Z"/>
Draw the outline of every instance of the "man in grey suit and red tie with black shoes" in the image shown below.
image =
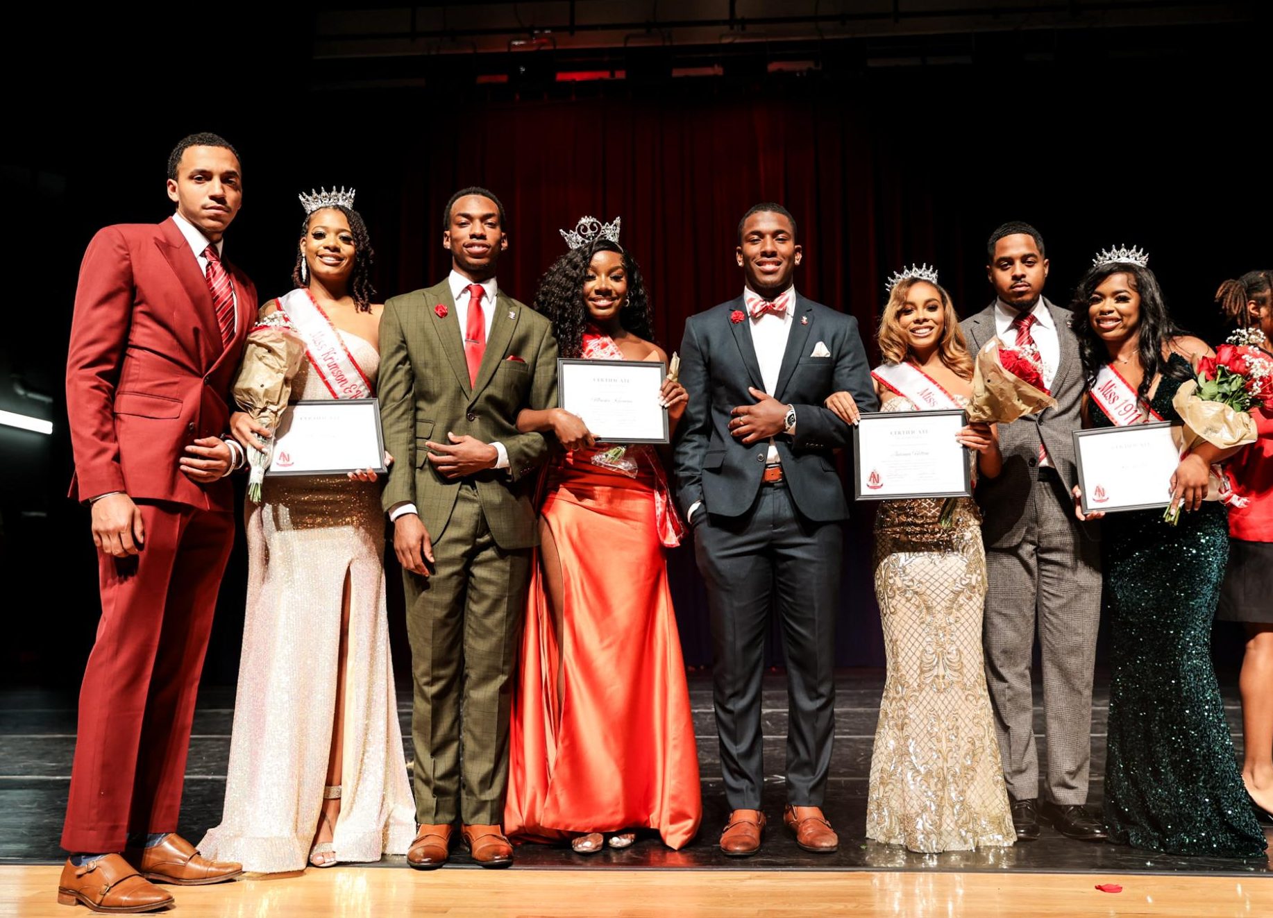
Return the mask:
<path id="1" fill-rule="evenodd" d="M 974 353 L 998 337 L 1037 348 L 1055 409 L 999 427 L 1003 471 L 976 486 L 984 514 L 985 676 L 1017 838 L 1039 838 L 1040 820 L 1071 838 L 1100 842 L 1085 807 L 1091 763 L 1092 670 L 1101 569 L 1095 523 L 1081 523 L 1072 433 L 1081 425 L 1083 367 L 1072 313 L 1043 297 L 1043 237 L 1006 223 L 987 246 L 995 302 L 964 321 Z M 1031 656 L 1039 634 L 1048 741 L 1046 798 L 1039 805 Z"/>

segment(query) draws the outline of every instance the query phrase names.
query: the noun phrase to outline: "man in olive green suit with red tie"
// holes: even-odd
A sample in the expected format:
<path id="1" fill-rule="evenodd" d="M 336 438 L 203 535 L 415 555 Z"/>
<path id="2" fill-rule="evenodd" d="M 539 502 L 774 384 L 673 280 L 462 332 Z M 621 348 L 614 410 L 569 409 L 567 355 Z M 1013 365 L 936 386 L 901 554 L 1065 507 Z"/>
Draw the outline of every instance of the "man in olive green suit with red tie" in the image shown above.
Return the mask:
<path id="1" fill-rule="evenodd" d="M 556 405 L 558 346 L 546 318 L 496 289 L 508 237 L 493 194 L 457 192 L 442 244 L 447 280 L 390 299 L 381 320 L 381 418 L 396 458 L 384 509 L 415 676 L 420 828 L 407 863 L 440 867 L 460 820 L 474 859 L 505 867 L 510 671 L 537 540 L 531 472 L 547 453 L 517 415 Z"/>

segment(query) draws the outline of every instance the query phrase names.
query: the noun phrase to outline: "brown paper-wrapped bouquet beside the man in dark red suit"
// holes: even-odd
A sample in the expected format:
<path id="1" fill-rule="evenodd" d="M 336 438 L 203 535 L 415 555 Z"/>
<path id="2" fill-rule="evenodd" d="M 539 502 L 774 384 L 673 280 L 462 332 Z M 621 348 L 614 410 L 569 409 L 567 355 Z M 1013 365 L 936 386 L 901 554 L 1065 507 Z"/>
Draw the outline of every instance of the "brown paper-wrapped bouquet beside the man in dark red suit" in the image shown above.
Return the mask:
<path id="1" fill-rule="evenodd" d="M 233 396 L 252 420 L 271 433 L 278 429 L 279 419 L 288 407 L 292 379 L 300 368 L 304 354 L 304 341 L 284 312 L 260 316 L 248 332 Z M 272 452 L 272 439 L 266 442 L 265 452 L 247 451 L 251 466 L 247 495 L 253 503 L 261 503 L 261 483 L 265 480 L 265 470 L 270 467 Z"/>

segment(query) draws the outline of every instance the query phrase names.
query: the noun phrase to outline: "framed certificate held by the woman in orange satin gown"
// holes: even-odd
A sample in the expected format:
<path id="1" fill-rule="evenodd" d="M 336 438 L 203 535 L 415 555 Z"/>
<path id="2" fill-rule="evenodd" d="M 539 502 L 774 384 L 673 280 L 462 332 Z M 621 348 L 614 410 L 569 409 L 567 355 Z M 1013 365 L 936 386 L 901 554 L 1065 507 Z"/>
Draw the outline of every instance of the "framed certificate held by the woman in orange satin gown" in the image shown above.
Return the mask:
<path id="1" fill-rule="evenodd" d="M 558 359 L 558 400 L 602 443 L 667 443 L 658 392 L 667 364 L 654 360 Z"/>

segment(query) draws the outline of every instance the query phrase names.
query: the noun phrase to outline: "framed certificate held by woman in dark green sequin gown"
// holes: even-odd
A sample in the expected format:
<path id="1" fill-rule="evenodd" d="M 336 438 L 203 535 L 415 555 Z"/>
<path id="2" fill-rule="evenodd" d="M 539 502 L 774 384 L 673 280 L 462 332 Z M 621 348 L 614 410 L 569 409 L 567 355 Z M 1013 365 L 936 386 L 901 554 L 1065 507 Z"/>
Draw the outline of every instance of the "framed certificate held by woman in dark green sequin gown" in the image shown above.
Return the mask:
<path id="1" fill-rule="evenodd" d="M 1172 424 L 1129 424 L 1074 430 L 1074 463 L 1083 513 L 1148 511 L 1171 503 L 1180 465 Z"/>

